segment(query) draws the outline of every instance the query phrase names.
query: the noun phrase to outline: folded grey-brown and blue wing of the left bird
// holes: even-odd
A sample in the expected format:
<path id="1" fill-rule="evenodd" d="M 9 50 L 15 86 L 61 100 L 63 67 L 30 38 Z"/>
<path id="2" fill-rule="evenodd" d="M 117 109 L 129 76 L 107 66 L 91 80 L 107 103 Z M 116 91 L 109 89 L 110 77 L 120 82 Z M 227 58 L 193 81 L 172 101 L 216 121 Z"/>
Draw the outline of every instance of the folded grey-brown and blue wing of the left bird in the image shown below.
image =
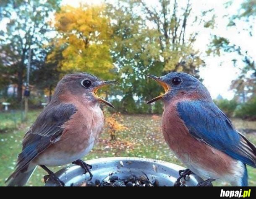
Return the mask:
<path id="1" fill-rule="evenodd" d="M 63 124 L 76 113 L 76 106 L 63 103 L 48 105 L 25 134 L 22 152 L 18 155 L 16 171 L 24 168 L 51 144 L 57 142 L 63 132 Z"/>

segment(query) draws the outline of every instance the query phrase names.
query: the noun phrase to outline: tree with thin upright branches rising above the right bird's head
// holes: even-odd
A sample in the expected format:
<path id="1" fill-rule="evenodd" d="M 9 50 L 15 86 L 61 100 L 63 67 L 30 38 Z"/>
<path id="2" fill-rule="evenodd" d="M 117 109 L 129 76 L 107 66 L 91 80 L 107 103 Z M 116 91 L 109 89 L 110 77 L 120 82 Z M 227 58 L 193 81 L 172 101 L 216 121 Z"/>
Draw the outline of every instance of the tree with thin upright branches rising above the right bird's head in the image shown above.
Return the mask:
<path id="1" fill-rule="evenodd" d="M 144 0 L 137 0 L 146 20 L 156 27 L 160 56 L 167 72 L 183 71 L 199 78 L 198 68 L 204 65 L 199 57 L 199 51 L 193 49 L 197 32 L 187 32 L 187 22 L 191 17 L 191 3 L 185 7 L 178 5 L 177 0 L 159 0 L 158 7 L 148 7 Z M 181 14 L 179 14 L 181 13 Z M 198 18 L 193 20 L 193 25 Z M 188 34 L 190 34 L 188 36 Z"/>

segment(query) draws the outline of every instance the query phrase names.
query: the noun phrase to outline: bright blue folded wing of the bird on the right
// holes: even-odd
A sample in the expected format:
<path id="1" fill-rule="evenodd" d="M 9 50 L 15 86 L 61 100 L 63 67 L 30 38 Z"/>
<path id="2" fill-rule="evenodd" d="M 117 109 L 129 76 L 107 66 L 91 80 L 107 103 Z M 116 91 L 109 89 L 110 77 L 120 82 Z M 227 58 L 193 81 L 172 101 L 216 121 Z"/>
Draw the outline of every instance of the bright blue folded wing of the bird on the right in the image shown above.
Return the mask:
<path id="1" fill-rule="evenodd" d="M 256 147 L 234 129 L 213 102 L 183 101 L 177 104 L 177 111 L 194 138 L 256 167 Z"/>

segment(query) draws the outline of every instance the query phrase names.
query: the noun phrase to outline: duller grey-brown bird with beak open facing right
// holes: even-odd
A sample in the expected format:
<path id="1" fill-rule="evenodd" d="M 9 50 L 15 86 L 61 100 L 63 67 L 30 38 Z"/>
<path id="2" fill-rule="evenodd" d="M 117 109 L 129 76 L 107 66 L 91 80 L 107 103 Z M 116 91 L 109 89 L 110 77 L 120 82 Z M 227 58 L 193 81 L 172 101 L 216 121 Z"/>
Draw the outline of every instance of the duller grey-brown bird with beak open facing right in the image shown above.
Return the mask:
<path id="1" fill-rule="evenodd" d="M 65 75 L 57 83 L 50 103 L 26 132 L 16 170 L 5 183 L 24 186 L 39 165 L 48 173 L 44 181 L 50 179 L 57 186 L 65 186 L 47 167 L 68 163 L 80 165 L 91 179 L 91 165 L 81 158 L 90 152 L 103 129 L 99 103 L 114 108 L 97 96 L 97 90 L 114 83 L 118 82 L 103 81 L 86 72 Z"/>

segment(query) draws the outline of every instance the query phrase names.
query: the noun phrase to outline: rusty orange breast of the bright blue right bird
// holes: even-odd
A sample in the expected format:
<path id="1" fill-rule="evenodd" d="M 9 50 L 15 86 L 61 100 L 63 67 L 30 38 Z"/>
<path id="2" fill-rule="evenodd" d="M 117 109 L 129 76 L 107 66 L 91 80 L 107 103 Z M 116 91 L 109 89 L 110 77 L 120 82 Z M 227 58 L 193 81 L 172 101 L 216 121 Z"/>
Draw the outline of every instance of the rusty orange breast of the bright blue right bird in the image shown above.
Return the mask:
<path id="1" fill-rule="evenodd" d="M 170 149 L 186 166 L 201 167 L 220 175 L 232 168 L 234 160 L 230 156 L 191 136 L 178 116 L 176 103 L 165 107 L 162 132 Z"/>

